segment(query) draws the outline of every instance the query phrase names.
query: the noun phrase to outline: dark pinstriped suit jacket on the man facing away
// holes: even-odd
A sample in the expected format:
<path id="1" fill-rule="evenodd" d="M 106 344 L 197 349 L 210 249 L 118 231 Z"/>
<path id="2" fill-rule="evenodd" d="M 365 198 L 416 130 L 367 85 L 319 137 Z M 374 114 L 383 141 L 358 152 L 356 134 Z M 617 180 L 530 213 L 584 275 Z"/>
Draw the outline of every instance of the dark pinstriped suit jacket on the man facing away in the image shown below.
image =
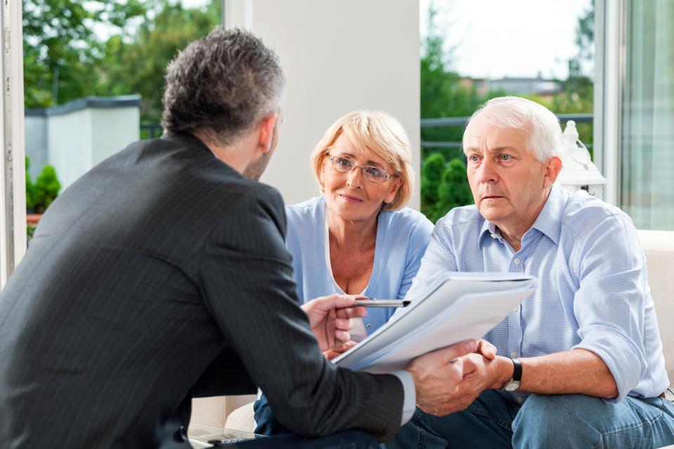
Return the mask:
<path id="1" fill-rule="evenodd" d="M 392 438 L 400 381 L 323 358 L 284 235 L 278 192 L 192 136 L 91 169 L 0 294 L 0 445 L 188 448 L 193 393 L 257 386 L 297 434 Z"/>

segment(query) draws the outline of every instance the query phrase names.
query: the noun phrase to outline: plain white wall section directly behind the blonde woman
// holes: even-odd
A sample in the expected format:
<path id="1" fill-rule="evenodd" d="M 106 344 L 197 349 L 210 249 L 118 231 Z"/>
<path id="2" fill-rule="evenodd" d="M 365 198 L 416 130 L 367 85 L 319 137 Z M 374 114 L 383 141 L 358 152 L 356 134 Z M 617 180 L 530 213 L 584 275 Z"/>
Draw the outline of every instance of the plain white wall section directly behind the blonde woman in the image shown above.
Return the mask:
<path id="1" fill-rule="evenodd" d="M 261 181 L 285 202 L 318 193 L 309 155 L 328 126 L 356 109 L 386 110 L 413 145 L 419 207 L 419 1 L 233 0 L 226 25 L 274 48 L 287 77 L 276 154 Z"/>

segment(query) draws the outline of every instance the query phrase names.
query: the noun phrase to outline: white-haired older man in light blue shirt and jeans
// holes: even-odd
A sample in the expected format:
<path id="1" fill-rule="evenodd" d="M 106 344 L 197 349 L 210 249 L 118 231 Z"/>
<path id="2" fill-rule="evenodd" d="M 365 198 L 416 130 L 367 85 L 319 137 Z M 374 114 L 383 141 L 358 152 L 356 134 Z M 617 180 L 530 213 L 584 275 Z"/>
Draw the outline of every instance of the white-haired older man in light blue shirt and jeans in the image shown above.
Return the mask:
<path id="1" fill-rule="evenodd" d="M 438 417 L 417 409 L 394 446 L 659 447 L 674 406 L 635 226 L 617 207 L 555 183 L 562 130 L 541 105 L 489 100 L 463 137 L 475 205 L 439 220 L 407 297 L 443 271 L 536 275 L 538 291 L 469 354 Z M 437 413 L 436 413 L 437 414 Z"/>

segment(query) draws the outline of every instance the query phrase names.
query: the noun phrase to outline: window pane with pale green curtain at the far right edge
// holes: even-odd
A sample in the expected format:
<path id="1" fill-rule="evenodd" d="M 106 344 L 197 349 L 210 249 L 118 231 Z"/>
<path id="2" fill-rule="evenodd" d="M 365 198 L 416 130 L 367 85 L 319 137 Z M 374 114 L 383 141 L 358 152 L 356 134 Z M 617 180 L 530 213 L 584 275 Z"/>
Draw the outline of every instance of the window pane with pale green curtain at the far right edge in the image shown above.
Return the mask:
<path id="1" fill-rule="evenodd" d="M 625 4 L 618 206 L 637 228 L 674 230 L 674 3 Z"/>

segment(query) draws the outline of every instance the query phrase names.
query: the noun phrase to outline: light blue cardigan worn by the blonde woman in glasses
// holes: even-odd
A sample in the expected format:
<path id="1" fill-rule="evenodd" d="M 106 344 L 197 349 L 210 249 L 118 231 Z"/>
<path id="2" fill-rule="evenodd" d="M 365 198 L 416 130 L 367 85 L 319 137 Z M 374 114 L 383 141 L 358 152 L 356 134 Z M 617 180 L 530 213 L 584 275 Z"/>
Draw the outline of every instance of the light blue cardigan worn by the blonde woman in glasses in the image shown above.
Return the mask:
<path id="1" fill-rule="evenodd" d="M 343 294 L 326 263 L 325 197 L 285 207 L 288 228 L 285 245 L 292 254 L 297 295 L 303 303 L 328 294 Z M 380 212 L 377 217 L 375 262 L 368 287 L 370 298 L 403 298 L 412 285 L 426 251 L 433 224 L 420 212 L 406 207 Z M 330 260 L 329 258 L 327 259 Z M 391 318 L 394 308 L 369 308 L 363 318 L 370 334 Z"/>

